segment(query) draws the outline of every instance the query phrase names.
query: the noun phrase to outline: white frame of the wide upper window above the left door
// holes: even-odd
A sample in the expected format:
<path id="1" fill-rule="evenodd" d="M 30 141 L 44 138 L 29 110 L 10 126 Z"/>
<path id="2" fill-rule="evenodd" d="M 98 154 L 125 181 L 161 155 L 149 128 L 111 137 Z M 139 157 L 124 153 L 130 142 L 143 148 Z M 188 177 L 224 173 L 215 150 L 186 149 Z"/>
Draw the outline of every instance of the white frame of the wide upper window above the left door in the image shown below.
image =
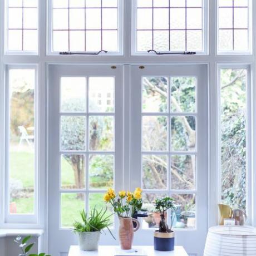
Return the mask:
<path id="1" fill-rule="evenodd" d="M 47 55 L 59 55 L 59 52 L 53 52 L 53 14 L 52 14 L 52 3 L 54 0 L 45 0 L 48 1 L 48 8 L 47 8 Z M 107 52 L 107 53 L 100 53 L 100 56 L 123 56 L 124 55 L 124 0 L 118 0 L 118 8 L 117 8 L 117 27 L 118 27 L 118 40 L 119 42 L 117 45 L 119 46 L 119 51 L 117 52 Z M 104 50 L 104 49 L 103 49 Z M 80 52 L 80 51 L 78 51 Z M 91 51 L 86 51 L 86 53 L 93 53 Z M 99 56 L 99 57 L 100 57 Z M 72 56 L 70 56 L 72 57 Z"/>

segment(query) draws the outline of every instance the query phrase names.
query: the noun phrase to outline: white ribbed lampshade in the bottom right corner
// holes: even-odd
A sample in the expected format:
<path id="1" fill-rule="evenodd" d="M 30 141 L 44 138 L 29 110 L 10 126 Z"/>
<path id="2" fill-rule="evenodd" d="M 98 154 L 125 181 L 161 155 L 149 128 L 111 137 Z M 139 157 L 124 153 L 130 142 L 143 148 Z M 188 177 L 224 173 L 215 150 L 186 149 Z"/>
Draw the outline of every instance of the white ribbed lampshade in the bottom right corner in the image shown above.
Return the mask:
<path id="1" fill-rule="evenodd" d="M 256 229 L 249 226 L 209 228 L 204 256 L 256 255 Z"/>

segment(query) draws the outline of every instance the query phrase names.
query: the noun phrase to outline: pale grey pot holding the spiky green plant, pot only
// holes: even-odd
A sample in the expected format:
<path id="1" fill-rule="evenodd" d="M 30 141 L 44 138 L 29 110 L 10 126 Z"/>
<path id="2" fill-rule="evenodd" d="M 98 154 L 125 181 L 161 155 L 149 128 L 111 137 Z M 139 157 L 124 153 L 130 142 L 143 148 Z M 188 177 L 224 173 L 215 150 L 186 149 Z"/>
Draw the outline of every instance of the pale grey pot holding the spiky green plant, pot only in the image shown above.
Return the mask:
<path id="1" fill-rule="evenodd" d="M 80 250 L 97 250 L 100 240 L 100 232 L 80 232 L 79 247 Z"/>

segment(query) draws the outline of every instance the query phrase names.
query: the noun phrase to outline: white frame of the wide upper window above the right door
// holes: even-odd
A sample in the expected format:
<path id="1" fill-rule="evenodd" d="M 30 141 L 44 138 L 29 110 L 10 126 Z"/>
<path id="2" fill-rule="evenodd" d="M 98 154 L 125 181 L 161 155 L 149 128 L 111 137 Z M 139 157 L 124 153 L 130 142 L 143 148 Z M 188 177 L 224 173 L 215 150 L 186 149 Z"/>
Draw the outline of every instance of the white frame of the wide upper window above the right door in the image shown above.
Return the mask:
<path id="1" fill-rule="evenodd" d="M 208 55 L 208 0 L 201 0 L 202 1 L 202 51 L 196 51 L 196 55 Z M 131 0 L 132 2 L 132 19 L 131 19 L 131 54 L 134 56 L 148 56 L 148 55 L 155 55 L 154 52 L 139 52 L 137 51 L 137 36 L 136 36 L 136 28 L 137 28 L 137 0 Z M 151 50 L 151 49 L 149 49 Z M 164 51 L 165 52 L 165 51 Z M 170 52 L 180 52 L 180 51 L 170 51 Z M 182 51 L 181 51 L 182 52 Z M 161 55 L 161 57 L 166 57 L 168 55 Z"/>

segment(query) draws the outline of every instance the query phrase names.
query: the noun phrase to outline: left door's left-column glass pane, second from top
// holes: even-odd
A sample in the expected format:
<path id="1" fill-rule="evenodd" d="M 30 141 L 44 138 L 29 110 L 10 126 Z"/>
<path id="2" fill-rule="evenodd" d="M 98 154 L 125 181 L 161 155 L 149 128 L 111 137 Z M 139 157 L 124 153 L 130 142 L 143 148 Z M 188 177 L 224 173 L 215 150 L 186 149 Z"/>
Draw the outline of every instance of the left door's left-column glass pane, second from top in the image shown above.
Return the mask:
<path id="1" fill-rule="evenodd" d="M 86 117 L 61 116 L 61 150 L 86 149 Z"/>

